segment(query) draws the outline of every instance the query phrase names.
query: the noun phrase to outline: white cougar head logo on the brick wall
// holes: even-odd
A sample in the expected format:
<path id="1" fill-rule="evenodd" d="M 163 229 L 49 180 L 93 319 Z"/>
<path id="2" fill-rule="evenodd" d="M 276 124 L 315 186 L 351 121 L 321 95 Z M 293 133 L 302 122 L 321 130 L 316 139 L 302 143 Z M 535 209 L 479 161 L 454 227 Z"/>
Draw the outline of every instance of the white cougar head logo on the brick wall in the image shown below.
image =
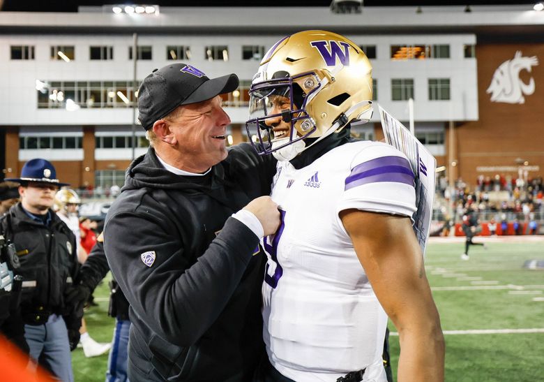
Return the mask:
<path id="1" fill-rule="evenodd" d="M 491 102 L 525 103 L 524 96 L 534 93 L 534 78 L 524 83 L 520 78 L 520 71 L 528 71 L 538 65 L 538 58 L 522 57 L 522 52 L 515 52 L 514 58 L 504 61 L 493 74 L 491 85 L 487 92 L 491 94 Z"/>

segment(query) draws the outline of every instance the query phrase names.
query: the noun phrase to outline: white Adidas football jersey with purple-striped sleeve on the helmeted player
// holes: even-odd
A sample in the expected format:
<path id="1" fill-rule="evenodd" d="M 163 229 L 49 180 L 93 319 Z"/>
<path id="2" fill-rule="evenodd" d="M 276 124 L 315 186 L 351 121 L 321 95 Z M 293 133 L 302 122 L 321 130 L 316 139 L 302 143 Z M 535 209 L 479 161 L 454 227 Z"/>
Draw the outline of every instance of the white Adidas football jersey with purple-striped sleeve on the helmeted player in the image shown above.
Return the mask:
<path id="1" fill-rule="evenodd" d="M 278 162 L 271 194 L 282 223 L 264 238 L 264 341 L 272 365 L 296 382 L 336 381 L 366 368 L 386 381 L 387 316 L 338 213 L 351 208 L 411 216 L 414 175 L 404 154 L 350 142 L 296 170 Z"/>

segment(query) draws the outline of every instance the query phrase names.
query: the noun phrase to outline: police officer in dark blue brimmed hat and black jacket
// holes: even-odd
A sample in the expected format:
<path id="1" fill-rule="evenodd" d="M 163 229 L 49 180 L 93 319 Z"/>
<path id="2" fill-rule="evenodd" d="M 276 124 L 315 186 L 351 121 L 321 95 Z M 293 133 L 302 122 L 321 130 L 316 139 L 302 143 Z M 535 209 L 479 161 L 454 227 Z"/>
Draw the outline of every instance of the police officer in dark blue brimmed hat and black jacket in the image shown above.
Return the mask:
<path id="1" fill-rule="evenodd" d="M 70 348 L 79 341 L 82 309 L 65 303 L 77 276 L 75 236 L 52 211 L 54 194 L 67 185 L 52 163 L 32 159 L 18 182 L 20 203 L 0 218 L 0 230 L 15 244 L 23 277 L 21 311 L 24 337 L 33 360 L 62 381 L 73 381 Z"/>

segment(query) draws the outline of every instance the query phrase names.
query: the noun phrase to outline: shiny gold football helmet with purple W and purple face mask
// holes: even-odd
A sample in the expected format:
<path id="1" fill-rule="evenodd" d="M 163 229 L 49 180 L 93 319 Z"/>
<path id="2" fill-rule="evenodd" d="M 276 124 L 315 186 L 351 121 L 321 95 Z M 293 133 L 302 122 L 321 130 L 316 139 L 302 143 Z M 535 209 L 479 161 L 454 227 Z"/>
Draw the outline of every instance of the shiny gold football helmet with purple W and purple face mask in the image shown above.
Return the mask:
<path id="1" fill-rule="evenodd" d="M 266 52 L 245 128 L 257 130 L 259 154 L 289 161 L 348 122 L 368 122 L 371 100 L 372 66 L 361 48 L 339 34 L 302 31 Z"/>

